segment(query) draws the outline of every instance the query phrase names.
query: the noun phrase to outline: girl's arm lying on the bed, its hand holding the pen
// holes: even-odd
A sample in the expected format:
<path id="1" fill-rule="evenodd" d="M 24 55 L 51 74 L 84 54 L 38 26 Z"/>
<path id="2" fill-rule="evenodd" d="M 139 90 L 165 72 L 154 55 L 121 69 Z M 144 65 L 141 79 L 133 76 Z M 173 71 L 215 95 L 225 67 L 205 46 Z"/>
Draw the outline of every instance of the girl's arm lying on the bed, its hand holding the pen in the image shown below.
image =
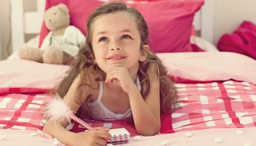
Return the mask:
<path id="1" fill-rule="evenodd" d="M 74 112 L 77 112 L 79 107 L 83 102 L 77 103 L 75 97 L 84 98 L 82 101 L 85 100 L 90 90 L 88 87 L 83 88 L 83 90 L 77 90 L 77 87 L 80 85 L 80 76 L 77 76 L 74 80 L 73 84 L 70 86 L 67 94 L 63 98 L 63 102 L 70 107 L 70 109 Z M 76 91 L 76 92 L 75 92 Z M 83 91 L 83 92 L 82 92 Z M 85 93 L 86 92 L 86 93 Z M 79 101 L 79 100 L 78 100 Z M 111 135 L 107 132 L 108 129 L 101 128 L 101 131 L 87 131 L 83 133 L 73 133 L 66 129 L 68 122 L 65 124 L 54 125 L 51 119 L 47 121 L 46 125 L 43 128 L 43 132 L 50 134 L 52 137 L 57 138 L 61 143 L 65 145 L 82 145 L 84 143 L 88 145 L 95 145 L 100 144 L 103 145 L 107 143 L 106 140 L 101 138 L 111 137 Z M 67 138 L 68 137 L 68 138 Z"/>

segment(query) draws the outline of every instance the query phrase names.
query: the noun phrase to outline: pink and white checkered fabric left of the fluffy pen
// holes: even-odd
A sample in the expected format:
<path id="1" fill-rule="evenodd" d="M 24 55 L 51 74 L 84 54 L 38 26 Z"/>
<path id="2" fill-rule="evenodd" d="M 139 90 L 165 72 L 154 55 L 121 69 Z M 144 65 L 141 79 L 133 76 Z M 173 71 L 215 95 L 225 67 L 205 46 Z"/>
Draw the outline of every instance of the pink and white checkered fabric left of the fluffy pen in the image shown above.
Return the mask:
<path id="1" fill-rule="evenodd" d="M 42 130 L 41 109 L 47 98 L 44 93 L 0 95 L 0 128 Z"/>

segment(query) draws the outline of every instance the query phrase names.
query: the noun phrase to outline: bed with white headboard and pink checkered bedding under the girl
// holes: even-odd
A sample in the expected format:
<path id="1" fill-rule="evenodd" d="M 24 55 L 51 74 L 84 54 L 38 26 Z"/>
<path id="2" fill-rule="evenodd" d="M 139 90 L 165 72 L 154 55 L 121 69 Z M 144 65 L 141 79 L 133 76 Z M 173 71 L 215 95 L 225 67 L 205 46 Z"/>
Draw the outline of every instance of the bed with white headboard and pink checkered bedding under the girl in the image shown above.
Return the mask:
<path id="1" fill-rule="evenodd" d="M 39 27 L 27 27 L 27 23 L 31 24 L 27 21 L 40 18 L 45 7 L 45 1 L 38 0 L 38 11 L 24 14 L 22 2 L 11 1 L 12 10 L 20 10 L 13 11 L 12 15 L 19 15 L 22 23 L 17 25 L 17 20 L 12 20 L 12 29 L 17 30 L 12 32 L 14 53 L 9 59 L 0 61 L 0 140 L 4 145 L 56 145 L 50 135 L 42 133 L 46 121 L 41 109 L 51 99 L 47 91 L 58 84 L 69 66 L 17 59 L 15 52 L 25 43 L 21 36 L 29 32 L 39 34 L 41 30 L 42 19 L 38 20 Z M 205 52 L 157 53 L 168 75 L 175 80 L 179 94 L 179 108 L 161 116 L 160 134 L 138 139 L 134 126 L 122 121 L 86 122 L 93 127 L 125 127 L 132 138 L 121 145 L 255 144 L 256 61 L 215 49 L 210 31 L 211 2 L 205 1 L 195 15 L 193 24 L 198 36 L 188 38 L 191 42 L 204 42 L 201 46 L 205 47 Z M 29 43 L 38 46 L 38 40 L 39 36 Z M 85 130 L 77 123 L 68 125 L 67 129 Z"/>

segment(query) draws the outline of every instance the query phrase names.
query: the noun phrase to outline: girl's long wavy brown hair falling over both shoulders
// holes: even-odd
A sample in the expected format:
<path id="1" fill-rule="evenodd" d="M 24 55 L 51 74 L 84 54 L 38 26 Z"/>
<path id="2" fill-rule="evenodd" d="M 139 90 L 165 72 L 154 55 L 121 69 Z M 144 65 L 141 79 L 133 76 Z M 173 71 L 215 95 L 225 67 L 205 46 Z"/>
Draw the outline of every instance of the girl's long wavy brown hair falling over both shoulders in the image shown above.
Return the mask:
<path id="1" fill-rule="evenodd" d="M 108 13 L 115 13 L 124 11 L 127 12 L 135 18 L 138 29 L 140 32 L 141 38 L 141 46 L 140 50 L 144 50 L 143 45 L 149 44 L 149 31 L 148 25 L 142 15 L 138 10 L 133 9 L 131 7 L 127 8 L 125 3 L 123 2 L 110 2 L 104 5 L 99 6 L 88 18 L 87 20 L 87 36 L 84 44 L 79 50 L 76 60 L 73 65 L 71 65 L 70 70 L 67 72 L 67 76 L 63 78 L 60 82 L 57 93 L 63 98 L 71 84 L 74 82 L 76 77 L 80 75 L 81 77 L 81 85 L 77 88 L 81 89 L 82 86 L 88 86 L 93 88 L 94 90 L 99 88 L 99 81 L 104 80 L 106 78 L 106 74 L 99 68 L 97 63 L 94 62 L 94 53 L 92 50 L 92 23 L 100 16 Z M 146 50 L 144 50 L 146 51 Z M 141 84 L 141 95 L 145 98 L 150 90 L 150 82 L 148 76 L 148 68 L 150 64 L 157 64 L 157 74 L 159 75 L 160 82 L 160 102 L 161 102 L 161 113 L 171 112 L 172 107 L 175 105 L 177 101 L 177 90 L 174 87 L 174 82 L 167 76 L 167 71 L 163 66 L 162 61 L 156 56 L 154 52 L 149 50 L 147 52 L 147 59 L 143 62 L 139 62 L 139 70 L 138 76 L 140 78 Z M 93 76 L 97 76 L 97 78 L 93 78 Z M 95 86 L 97 83 L 97 86 Z M 74 94 L 75 95 L 75 94 Z M 85 101 L 79 100 L 81 99 L 74 97 L 77 103 L 82 103 L 81 108 L 79 108 L 78 113 L 83 113 L 80 117 L 90 118 L 88 100 L 92 95 L 88 95 Z"/>

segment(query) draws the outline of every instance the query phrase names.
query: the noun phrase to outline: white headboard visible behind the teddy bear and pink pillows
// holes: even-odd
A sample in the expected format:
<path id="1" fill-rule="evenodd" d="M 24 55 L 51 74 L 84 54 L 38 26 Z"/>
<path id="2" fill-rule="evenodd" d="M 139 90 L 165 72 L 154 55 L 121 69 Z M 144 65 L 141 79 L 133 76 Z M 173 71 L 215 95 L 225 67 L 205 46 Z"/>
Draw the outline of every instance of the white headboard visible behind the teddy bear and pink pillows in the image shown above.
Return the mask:
<path id="1" fill-rule="evenodd" d="M 25 43 L 25 34 L 39 34 L 43 22 L 45 0 L 35 0 L 37 11 L 24 12 L 22 0 L 11 0 L 12 52 Z M 213 1 L 205 1 L 195 15 L 194 26 L 199 36 L 213 43 Z"/>

